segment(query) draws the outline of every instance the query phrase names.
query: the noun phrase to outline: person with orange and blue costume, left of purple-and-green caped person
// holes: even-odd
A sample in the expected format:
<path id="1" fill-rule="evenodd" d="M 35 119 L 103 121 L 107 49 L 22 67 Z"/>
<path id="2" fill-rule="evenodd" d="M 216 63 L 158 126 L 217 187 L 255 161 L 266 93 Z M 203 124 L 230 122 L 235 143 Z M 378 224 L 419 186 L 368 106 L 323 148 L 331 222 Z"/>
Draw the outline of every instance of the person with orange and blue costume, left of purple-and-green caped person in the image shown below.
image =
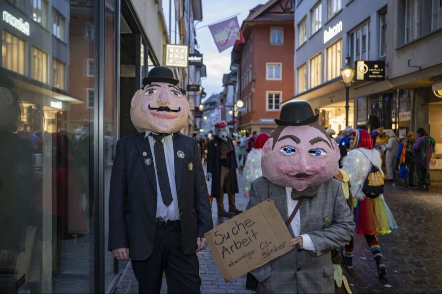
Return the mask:
<path id="1" fill-rule="evenodd" d="M 407 187 L 414 187 L 414 132 L 409 131 L 399 145 L 397 159 L 399 161 L 399 177 L 404 179 Z"/>

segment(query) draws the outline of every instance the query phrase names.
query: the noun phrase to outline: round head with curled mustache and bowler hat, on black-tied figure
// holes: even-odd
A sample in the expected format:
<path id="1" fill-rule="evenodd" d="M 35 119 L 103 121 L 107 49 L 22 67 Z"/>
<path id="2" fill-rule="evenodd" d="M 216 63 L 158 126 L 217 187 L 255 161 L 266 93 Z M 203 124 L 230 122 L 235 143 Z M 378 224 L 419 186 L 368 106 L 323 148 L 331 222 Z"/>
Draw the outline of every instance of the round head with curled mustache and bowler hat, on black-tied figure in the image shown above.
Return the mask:
<path id="1" fill-rule="evenodd" d="M 189 117 L 189 103 L 166 67 L 153 68 L 131 102 L 131 120 L 138 132 L 173 134 Z"/>

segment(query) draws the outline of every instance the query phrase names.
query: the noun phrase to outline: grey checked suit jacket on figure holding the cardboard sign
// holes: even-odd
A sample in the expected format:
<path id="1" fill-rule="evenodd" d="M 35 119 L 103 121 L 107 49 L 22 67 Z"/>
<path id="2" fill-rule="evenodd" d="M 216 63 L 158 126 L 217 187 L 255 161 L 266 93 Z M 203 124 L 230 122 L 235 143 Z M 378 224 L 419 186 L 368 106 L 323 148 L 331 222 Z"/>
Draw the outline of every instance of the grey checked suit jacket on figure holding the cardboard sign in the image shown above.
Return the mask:
<path id="1" fill-rule="evenodd" d="M 251 183 L 248 208 L 272 199 L 284 221 L 288 219 L 284 187 L 264 177 Z M 257 293 L 334 293 L 331 250 L 351 240 L 355 223 L 342 192 L 341 182 L 331 179 L 316 187 L 316 196 L 300 207 L 301 231 L 308 234 L 316 251 L 296 247 L 266 265 L 251 271 L 258 280 Z M 291 227 L 288 227 L 293 237 Z"/>

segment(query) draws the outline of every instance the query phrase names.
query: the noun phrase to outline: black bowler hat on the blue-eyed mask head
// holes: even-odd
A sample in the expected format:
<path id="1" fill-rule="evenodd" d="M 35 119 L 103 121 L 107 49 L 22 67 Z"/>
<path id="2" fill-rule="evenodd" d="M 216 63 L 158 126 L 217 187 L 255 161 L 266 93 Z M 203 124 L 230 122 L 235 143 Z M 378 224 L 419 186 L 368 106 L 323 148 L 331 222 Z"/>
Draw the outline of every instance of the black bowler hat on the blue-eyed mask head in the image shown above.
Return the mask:
<path id="1" fill-rule="evenodd" d="M 315 115 L 310 104 L 305 101 L 295 101 L 284 104 L 281 108 L 278 125 L 304 125 L 314 123 L 318 120 L 319 114 Z"/>

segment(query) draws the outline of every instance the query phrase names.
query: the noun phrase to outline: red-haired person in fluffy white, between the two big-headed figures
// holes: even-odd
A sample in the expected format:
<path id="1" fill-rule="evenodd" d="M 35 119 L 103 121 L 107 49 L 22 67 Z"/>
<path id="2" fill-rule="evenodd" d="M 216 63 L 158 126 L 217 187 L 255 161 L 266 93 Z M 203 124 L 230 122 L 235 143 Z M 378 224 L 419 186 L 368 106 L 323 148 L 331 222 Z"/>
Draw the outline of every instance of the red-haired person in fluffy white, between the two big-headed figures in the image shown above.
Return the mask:
<path id="1" fill-rule="evenodd" d="M 256 137 L 253 148 L 249 152 L 249 156 L 247 157 L 246 165 L 243 172 L 243 186 L 245 196 L 250 195 L 250 183 L 258 177 L 262 176 L 262 147 L 264 146 L 264 143 L 266 143 L 267 139 L 269 139 L 269 135 L 267 133 L 259 134 Z"/>

